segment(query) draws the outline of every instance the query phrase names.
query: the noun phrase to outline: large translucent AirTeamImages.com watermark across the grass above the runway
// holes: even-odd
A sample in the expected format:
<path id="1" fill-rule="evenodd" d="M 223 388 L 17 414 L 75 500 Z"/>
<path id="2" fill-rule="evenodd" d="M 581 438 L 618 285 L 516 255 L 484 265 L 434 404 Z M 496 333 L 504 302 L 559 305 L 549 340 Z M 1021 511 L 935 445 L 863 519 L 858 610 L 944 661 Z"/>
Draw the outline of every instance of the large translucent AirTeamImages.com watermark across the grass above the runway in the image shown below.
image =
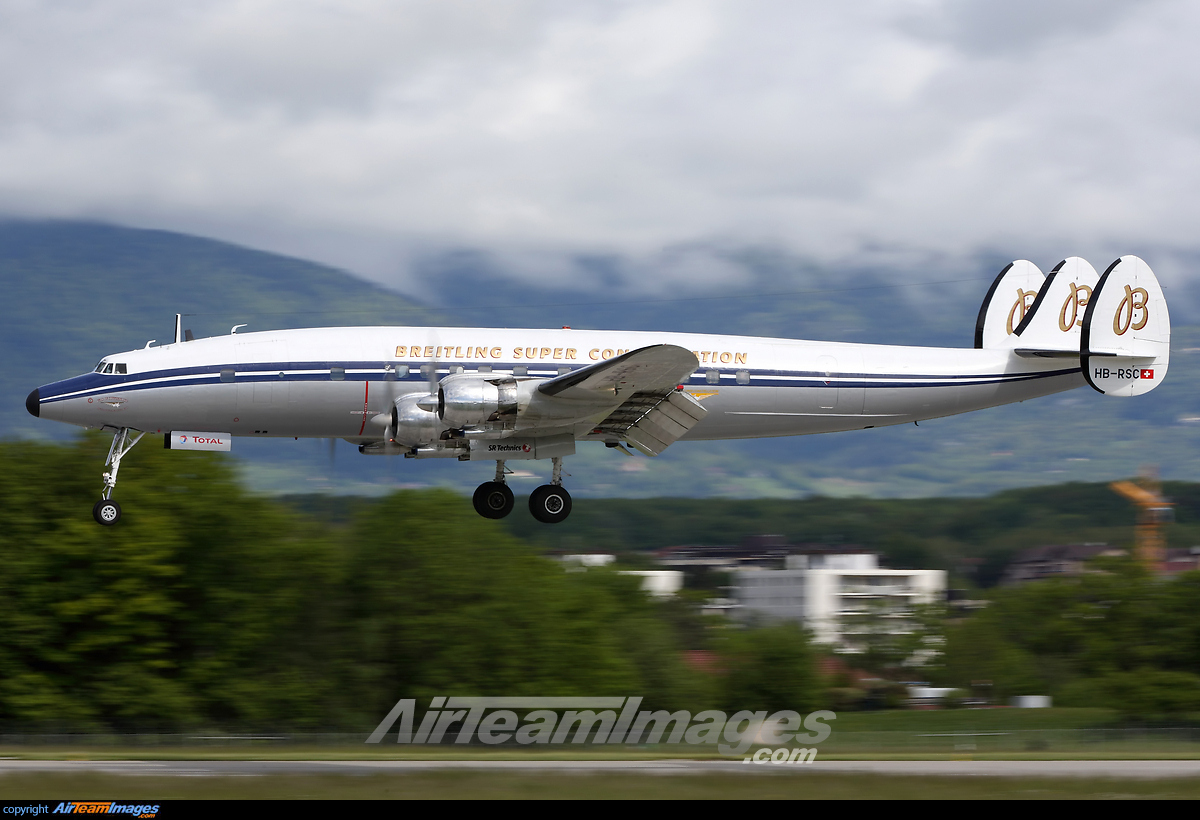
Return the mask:
<path id="1" fill-rule="evenodd" d="M 815 747 L 827 740 L 829 722 L 838 717 L 826 710 L 808 716 L 708 710 L 692 716 L 641 705 L 641 698 L 433 698 L 414 731 L 416 700 L 401 699 L 367 743 L 379 743 L 395 728 L 397 743 L 708 744 L 722 755 L 745 755 L 748 764 L 810 764 L 816 748 L 793 744 Z M 748 755 L 755 746 L 760 748 Z"/>

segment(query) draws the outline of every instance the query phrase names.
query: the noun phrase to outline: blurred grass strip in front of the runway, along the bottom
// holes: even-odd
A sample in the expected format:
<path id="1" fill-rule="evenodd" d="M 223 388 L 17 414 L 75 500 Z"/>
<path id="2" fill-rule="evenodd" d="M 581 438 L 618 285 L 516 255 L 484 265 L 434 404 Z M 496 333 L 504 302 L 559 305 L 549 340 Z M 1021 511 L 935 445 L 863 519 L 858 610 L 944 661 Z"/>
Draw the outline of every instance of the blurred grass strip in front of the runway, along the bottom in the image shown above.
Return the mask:
<path id="1" fill-rule="evenodd" d="M 166 778 L 0 777 L 0 800 L 1112 800 L 1198 798 L 1200 779 L 877 774 L 413 774 Z M 53 808 L 53 807 L 52 807 Z"/>

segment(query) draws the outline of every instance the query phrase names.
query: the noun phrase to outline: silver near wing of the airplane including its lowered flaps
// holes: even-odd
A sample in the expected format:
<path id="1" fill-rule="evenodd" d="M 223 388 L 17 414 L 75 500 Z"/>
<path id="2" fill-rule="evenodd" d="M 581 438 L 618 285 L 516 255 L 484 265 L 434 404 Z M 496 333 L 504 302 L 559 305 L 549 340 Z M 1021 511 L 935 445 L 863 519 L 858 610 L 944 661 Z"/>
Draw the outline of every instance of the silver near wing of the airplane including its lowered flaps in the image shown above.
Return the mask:
<path id="1" fill-rule="evenodd" d="M 698 401 L 679 390 L 700 366 L 696 354 L 674 345 L 652 345 L 559 376 L 539 385 L 553 397 L 612 407 L 595 433 L 659 455 L 703 419 Z"/>

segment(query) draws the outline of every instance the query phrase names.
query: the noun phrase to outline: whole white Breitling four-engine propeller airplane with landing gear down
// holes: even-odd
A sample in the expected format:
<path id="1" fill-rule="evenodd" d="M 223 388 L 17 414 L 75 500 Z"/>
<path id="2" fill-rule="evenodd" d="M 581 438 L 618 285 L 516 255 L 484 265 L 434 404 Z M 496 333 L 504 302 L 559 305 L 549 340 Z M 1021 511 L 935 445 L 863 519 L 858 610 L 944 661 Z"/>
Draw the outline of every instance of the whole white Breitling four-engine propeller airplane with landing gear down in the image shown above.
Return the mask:
<path id="1" fill-rule="evenodd" d="M 656 456 L 679 439 L 860 430 L 1025 401 L 1087 383 L 1148 393 L 1166 375 L 1170 317 L 1138 257 L 1103 276 L 1072 257 L 1000 273 L 973 349 L 613 330 L 314 328 L 192 339 L 104 357 L 29 394 L 34 415 L 115 431 L 92 515 L 146 433 L 169 449 L 229 450 L 234 436 L 344 438 L 365 454 L 494 461 L 480 515 L 512 511 L 505 462 L 550 459 L 529 509 L 570 514 L 576 442 Z"/>

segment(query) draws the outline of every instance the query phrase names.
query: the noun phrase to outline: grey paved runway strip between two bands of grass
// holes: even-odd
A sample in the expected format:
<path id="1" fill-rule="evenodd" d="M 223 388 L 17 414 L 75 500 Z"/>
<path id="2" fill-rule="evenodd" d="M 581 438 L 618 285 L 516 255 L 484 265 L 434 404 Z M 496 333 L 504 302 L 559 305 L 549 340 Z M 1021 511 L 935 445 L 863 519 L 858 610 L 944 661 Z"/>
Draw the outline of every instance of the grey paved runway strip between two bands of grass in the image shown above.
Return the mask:
<path id="1" fill-rule="evenodd" d="M 30 773 L 142 777 L 256 777 L 269 774 L 404 774 L 414 772 L 560 774 L 900 774 L 967 777 L 1200 777 L 1200 760 L 817 760 L 756 765 L 742 760 L 0 760 L 0 776 Z"/>

